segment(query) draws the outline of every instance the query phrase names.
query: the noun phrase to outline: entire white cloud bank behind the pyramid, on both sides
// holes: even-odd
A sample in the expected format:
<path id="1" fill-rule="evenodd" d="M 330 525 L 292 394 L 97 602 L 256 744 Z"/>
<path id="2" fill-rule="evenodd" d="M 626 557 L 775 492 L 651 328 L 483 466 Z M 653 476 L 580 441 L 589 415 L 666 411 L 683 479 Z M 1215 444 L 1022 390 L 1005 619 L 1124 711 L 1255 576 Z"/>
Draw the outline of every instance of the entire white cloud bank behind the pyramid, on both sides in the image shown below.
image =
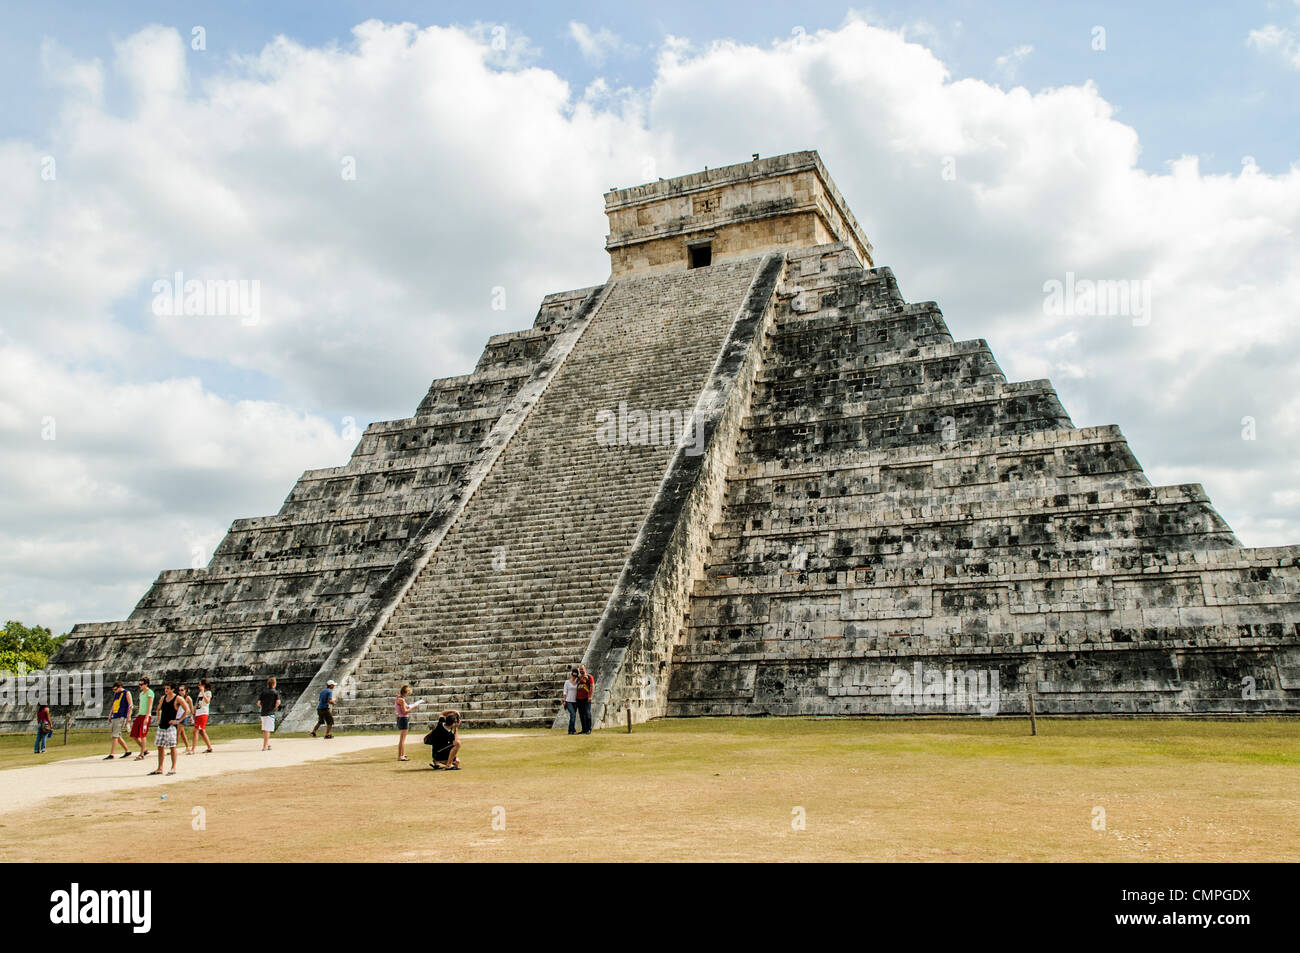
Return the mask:
<path id="1" fill-rule="evenodd" d="M 121 618 L 231 519 L 274 512 L 346 459 L 343 416 L 408 415 L 545 293 L 603 280 L 606 189 L 802 148 L 956 335 L 1053 377 L 1076 424 L 1121 424 L 1153 478 L 1205 482 L 1247 543 L 1300 541 L 1300 170 L 1143 172 L 1096 86 L 954 79 L 857 17 L 670 38 L 618 92 L 495 36 L 368 21 L 202 82 L 207 53 L 161 27 L 107 65 L 48 47 L 61 109 L 39 143 L 0 140 L 0 615 Z M 261 320 L 156 316 L 178 270 L 257 280 Z M 1067 273 L 1149 281 L 1150 321 L 1045 313 Z"/>

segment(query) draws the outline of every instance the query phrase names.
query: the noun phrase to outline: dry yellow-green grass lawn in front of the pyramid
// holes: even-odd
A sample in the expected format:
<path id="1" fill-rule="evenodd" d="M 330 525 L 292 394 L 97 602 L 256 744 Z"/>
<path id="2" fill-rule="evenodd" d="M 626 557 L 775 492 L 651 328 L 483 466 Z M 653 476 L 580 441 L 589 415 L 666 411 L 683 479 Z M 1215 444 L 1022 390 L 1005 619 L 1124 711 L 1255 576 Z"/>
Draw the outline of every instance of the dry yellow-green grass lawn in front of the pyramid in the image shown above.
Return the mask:
<path id="1" fill-rule="evenodd" d="M 1040 720 L 1031 737 L 998 719 L 684 719 L 468 737 L 450 774 L 426 754 L 47 802 L 0 819 L 39 832 L 0 858 L 107 859 L 164 837 L 270 862 L 1300 859 L 1287 720 Z"/>

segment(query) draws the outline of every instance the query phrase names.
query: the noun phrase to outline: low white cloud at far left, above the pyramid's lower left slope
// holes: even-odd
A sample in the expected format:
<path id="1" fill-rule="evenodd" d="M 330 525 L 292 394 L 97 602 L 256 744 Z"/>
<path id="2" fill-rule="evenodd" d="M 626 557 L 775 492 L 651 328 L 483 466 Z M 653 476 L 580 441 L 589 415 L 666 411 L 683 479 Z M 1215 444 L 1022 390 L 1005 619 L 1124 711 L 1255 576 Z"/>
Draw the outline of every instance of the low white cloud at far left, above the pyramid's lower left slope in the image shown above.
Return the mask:
<path id="1" fill-rule="evenodd" d="M 195 378 L 116 382 L 4 345 L 0 381 L 0 614 L 60 629 L 121 618 L 159 569 L 205 564 L 231 519 L 274 512 L 289 475 L 355 443 Z"/>

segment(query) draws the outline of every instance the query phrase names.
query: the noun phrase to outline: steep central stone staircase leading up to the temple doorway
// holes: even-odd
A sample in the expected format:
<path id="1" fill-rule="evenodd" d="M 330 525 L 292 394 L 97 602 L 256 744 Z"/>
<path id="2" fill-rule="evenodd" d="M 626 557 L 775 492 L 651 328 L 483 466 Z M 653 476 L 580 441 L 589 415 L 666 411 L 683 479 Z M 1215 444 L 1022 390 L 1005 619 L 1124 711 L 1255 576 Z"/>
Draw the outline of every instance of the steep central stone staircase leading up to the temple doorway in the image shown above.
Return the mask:
<path id="1" fill-rule="evenodd" d="M 688 413 L 758 260 L 616 281 L 358 664 L 341 725 L 403 683 L 467 724 L 546 725 L 676 445 L 602 446 L 597 413 Z"/>

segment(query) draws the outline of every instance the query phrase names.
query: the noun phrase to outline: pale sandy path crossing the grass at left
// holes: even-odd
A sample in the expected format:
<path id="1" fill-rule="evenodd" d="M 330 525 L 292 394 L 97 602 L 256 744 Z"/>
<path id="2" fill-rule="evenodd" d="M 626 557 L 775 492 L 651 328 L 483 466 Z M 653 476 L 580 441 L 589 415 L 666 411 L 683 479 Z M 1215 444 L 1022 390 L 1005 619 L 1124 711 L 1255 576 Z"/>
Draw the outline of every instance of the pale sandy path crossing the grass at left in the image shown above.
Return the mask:
<path id="1" fill-rule="evenodd" d="M 474 735 L 465 732 L 464 738 L 520 737 L 510 733 Z M 0 771 L 0 814 L 32 807 L 49 798 L 75 794 L 105 794 L 118 790 L 151 790 L 164 788 L 177 781 L 195 777 L 235 774 L 240 771 L 260 771 L 263 768 L 289 767 L 321 761 L 339 754 L 391 746 L 396 757 L 396 736 L 382 735 L 339 735 L 325 738 L 273 738 L 269 751 L 261 750 L 261 738 L 237 738 L 217 742 L 212 754 L 186 754 L 179 749 L 176 755 L 174 775 L 150 775 L 157 767 L 156 749 L 150 749 L 144 761 L 118 758 L 109 763 L 104 755 L 91 758 L 69 758 L 48 761 L 32 767 L 17 767 Z M 428 749 L 419 738 L 407 740 L 407 755 L 412 762 L 428 755 Z M 164 761 L 164 771 L 172 770 L 172 759 Z"/>

